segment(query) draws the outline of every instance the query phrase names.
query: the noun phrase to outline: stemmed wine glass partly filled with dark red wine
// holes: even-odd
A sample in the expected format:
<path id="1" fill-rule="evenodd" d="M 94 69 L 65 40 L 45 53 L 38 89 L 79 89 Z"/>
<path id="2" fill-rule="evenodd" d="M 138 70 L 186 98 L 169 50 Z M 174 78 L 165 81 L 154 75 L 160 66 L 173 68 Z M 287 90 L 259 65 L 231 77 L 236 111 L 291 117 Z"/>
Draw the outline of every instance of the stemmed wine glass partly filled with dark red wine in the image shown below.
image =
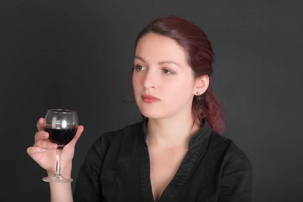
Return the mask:
<path id="1" fill-rule="evenodd" d="M 57 143 L 57 166 L 53 177 L 44 177 L 45 182 L 72 182 L 72 178 L 64 178 L 61 173 L 61 154 L 62 149 L 76 135 L 78 127 L 78 117 L 76 111 L 52 109 L 47 110 L 44 121 L 44 131 L 48 132 L 48 139 L 52 143 Z"/>

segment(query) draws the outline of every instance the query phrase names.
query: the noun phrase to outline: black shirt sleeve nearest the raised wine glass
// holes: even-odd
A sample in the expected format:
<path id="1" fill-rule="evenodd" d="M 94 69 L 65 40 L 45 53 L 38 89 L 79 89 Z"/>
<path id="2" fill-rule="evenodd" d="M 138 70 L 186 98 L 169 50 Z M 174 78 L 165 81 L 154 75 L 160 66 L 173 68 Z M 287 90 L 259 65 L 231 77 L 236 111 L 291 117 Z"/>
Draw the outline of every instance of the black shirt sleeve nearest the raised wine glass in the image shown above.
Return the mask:
<path id="1" fill-rule="evenodd" d="M 105 134 L 99 137 L 86 154 L 85 162 L 78 173 L 73 193 L 74 202 L 102 201 L 100 172 L 109 147 L 104 136 Z"/>

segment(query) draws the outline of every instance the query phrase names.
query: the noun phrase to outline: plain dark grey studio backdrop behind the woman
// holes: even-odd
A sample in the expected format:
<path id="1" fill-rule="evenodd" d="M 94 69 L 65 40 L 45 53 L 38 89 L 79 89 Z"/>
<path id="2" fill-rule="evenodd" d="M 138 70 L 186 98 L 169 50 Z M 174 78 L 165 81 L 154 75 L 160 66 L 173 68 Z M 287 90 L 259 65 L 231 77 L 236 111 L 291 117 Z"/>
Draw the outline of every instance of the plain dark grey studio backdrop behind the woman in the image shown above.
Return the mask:
<path id="1" fill-rule="evenodd" d="M 126 78 L 133 43 L 148 21 L 173 14 L 196 23 L 212 42 L 214 90 L 226 106 L 224 135 L 254 166 L 254 201 L 303 201 L 299 4 L 1 1 L 0 200 L 49 200 L 49 185 L 41 180 L 46 172 L 26 153 L 47 109 L 74 109 L 85 127 L 76 145 L 75 180 L 100 134 L 141 121 L 135 104 L 122 102 L 131 100 Z"/>

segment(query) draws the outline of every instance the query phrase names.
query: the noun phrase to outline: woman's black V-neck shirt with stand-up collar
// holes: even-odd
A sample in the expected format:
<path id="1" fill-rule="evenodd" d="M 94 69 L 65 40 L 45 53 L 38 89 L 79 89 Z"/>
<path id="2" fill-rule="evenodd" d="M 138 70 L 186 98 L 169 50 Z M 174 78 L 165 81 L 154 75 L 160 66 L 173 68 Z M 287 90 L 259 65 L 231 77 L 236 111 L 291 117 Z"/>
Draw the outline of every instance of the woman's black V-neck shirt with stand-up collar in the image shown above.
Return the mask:
<path id="1" fill-rule="evenodd" d="M 107 132 L 94 142 L 78 174 L 75 202 L 154 202 L 145 141 L 147 121 Z M 251 191 L 249 159 L 204 120 L 158 201 L 246 202 L 251 201 Z"/>

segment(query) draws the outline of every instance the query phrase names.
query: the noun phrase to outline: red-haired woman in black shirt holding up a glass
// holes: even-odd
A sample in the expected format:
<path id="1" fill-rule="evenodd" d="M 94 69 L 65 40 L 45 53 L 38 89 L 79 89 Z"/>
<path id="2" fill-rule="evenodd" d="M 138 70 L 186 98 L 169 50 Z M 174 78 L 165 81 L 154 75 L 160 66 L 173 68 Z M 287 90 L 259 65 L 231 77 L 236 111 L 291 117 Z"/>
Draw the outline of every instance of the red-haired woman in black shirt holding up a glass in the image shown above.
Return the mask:
<path id="1" fill-rule="evenodd" d="M 135 42 L 131 72 L 144 120 L 101 135 L 89 149 L 72 195 L 71 184 L 50 183 L 52 201 L 251 201 L 252 167 L 223 137 L 224 116 L 210 86 L 213 49 L 195 24 L 162 16 Z M 39 119 L 28 154 L 54 175 L 56 144 Z M 70 177 L 74 146 L 62 154 Z M 44 149 L 44 150 L 43 150 Z"/>

